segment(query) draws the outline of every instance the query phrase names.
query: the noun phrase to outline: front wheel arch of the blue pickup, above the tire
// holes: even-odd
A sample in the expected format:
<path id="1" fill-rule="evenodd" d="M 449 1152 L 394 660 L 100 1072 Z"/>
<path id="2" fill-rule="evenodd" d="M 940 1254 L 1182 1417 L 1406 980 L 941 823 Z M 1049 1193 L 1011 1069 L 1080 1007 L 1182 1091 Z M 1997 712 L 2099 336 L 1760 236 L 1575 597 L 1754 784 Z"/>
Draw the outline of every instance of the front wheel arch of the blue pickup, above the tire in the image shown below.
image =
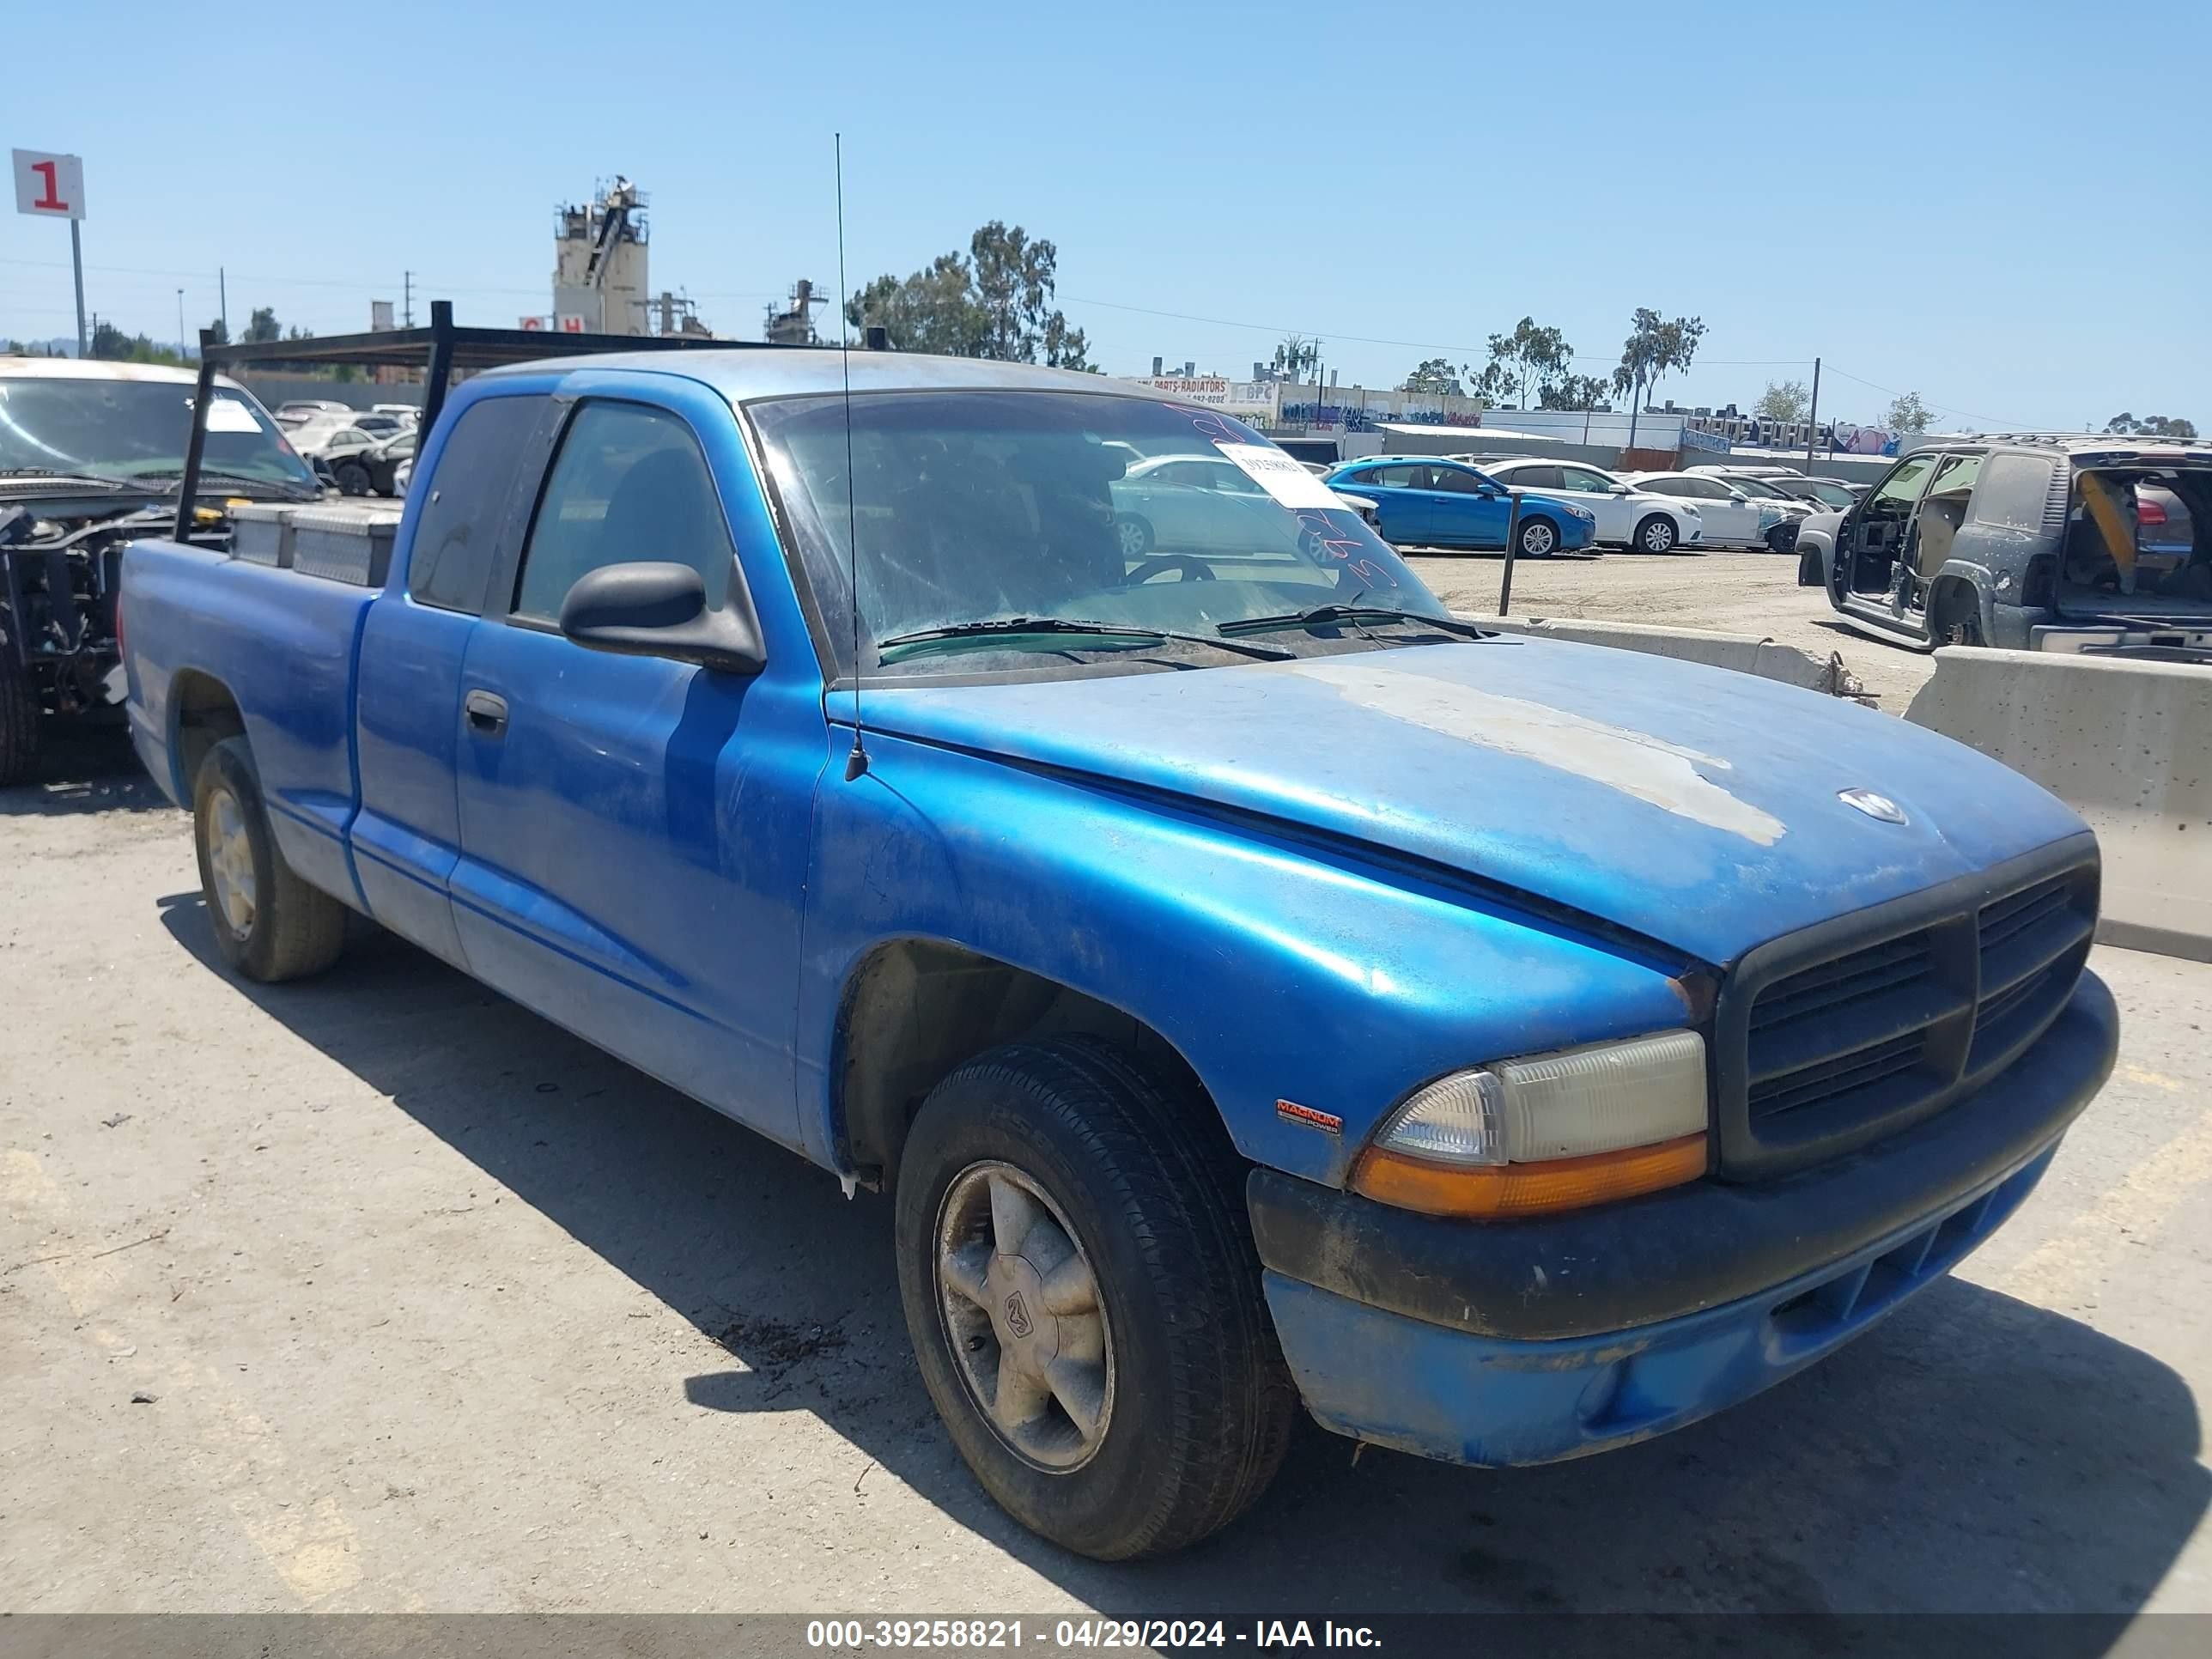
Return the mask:
<path id="1" fill-rule="evenodd" d="M 1197 1066 L 1139 1015 L 967 945 L 902 936 L 854 962 L 838 995 L 830 1110 L 843 1168 L 889 1190 L 938 1082 L 989 1048 L 1066 1033 L 1106 1037 L 1188 1082 L 1214 1106 L 1203 1133 L 1234 1150 Z"/>

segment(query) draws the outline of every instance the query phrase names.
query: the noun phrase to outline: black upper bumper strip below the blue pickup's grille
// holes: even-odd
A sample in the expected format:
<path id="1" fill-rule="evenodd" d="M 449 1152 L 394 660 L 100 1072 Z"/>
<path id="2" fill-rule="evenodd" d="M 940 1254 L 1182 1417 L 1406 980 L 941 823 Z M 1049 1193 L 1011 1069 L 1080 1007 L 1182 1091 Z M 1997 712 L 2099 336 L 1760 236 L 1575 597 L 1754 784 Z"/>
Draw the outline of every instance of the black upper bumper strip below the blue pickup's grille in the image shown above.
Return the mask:
<path id="1" fill-rule="evenodd" d="M 1730 1186 L 1694 1181 L 1533 1221 L 1444 1221 L 1281 1170 L 1245 1197 L 1259 1259 L 1396 1314 L 1511 1340 L 1655 1325 L 1787 1283 L 1995 1186 L 2112 1075 L 2119 1011 L 2095 973 L 1980 1093 L 1849 1157 Z"/>

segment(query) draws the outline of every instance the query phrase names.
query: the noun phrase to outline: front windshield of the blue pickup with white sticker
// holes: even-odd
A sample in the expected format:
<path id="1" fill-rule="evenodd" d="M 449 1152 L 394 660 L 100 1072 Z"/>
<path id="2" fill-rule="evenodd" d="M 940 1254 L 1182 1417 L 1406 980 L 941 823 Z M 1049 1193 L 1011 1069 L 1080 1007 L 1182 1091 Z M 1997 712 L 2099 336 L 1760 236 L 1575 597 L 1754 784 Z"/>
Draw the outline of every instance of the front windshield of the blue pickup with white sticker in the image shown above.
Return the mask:
<path id="1" fill-rule="evenodd" d="M 825 613 L 867 641 L 1006 619 L 1221 637 L 1327 604 L 1449 617 L 1360 515 L 1217 411 L 1086 392 L 887 392 L 748 405 Z M 858 480 L 856 487 L 847 478 Z M 1387 622 L 1387 617 L 1385 617 Z M 843 626 L 827 628 L 843 655 Z M 998 630 L 975 648 L 1126 650 Z M 1283 641 L 1296 648 L 1296 639 Z M 962 650 L 898 653 L 918 672 Z M 1223 653 L 1223 661 L 1232 661 Z"/>

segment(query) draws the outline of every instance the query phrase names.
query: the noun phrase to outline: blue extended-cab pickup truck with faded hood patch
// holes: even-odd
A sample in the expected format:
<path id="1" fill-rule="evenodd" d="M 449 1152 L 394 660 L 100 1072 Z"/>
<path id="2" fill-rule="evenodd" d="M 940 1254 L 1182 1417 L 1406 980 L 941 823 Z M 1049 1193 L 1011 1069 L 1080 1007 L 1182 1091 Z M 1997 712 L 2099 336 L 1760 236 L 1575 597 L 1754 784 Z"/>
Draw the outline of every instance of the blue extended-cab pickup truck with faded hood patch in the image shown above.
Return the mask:
<path id="1" fill-rule="evenodd" d="M 1486 1467 L 1694 1422 L 1942 1276 L 2108 1075 L 2097 847 L 2013 772 L 1482 633 L 1219 411 L 843 372 L 480 374 L 374 586 L 135 542 L 131 728 L 239 973 L 358 911 L 889 1192 L 1035 1531 L 1203 1537 L 1301 1405 Z M 1130 549 L 1115 484 L 1192 453 L 1272 513 Z"/>

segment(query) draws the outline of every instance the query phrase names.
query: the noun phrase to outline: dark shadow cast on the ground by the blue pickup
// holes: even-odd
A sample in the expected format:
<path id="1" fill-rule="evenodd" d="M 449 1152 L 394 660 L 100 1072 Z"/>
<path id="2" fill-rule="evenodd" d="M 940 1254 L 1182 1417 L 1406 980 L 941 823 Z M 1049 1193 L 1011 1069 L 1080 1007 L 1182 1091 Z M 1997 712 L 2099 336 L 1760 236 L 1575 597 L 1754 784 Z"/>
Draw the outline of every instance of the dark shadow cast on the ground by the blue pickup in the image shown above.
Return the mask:
<path id="1" fill-rule="evenodd" d="M 199 896 L 161 902 L 177 945 L 219 973 Z M 907 1352 L 889 1201 L 847 1203 L 794 1155 L 392 938 L 325 980 L 239 991 L 730 1352 L 728 1367 L 670 1374 L 672 1398 L 812 1411 L 1110 1615 L 1639 1610 L 1710 1646 L 1692 1635 L 1703 1615 L 2037 1608 L 2101 1617 L 2015 1626 L 2008 1646 L 2095 1655 L 2212 1498 L 2174 1371 L 1953 1279 L 1792 1383 L 1604 1458 L 1467 1471 L 1354 1460 L 1310 1429 L 1223 1537 L 1102 1566 L 1006 1520 L 940 1431 Z M 865 1498 L 852 1502 L 863 1526 Z M 947 1599 L 962 1601 L 958 1584 Z M 1978 1648 L 1986 1635 L 1960 1632 Z M 1756 1646 L 1834 1650 L 1838 1626 L 1778 1619 Z"/>

